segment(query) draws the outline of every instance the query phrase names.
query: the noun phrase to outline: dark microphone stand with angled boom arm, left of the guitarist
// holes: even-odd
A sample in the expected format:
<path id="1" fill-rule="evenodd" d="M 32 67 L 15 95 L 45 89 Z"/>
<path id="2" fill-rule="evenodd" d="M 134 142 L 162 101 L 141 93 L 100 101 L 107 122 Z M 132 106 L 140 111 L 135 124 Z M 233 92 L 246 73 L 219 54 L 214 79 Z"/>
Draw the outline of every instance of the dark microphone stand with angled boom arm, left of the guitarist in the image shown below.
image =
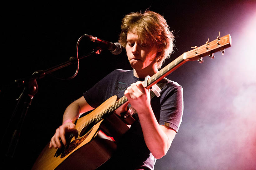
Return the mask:
<path id="1" fill-rule="evenodd" d="M 88 57 L 88 56 L 91 56 L 91 55 L 94 55 L 94 54 L 100 54 L 102 51 L 100 48 L 97 48 L 96 50 L 92 50 L 90 53 L 78 58 L 78 60 Z M 77 60 L 75 57 L 70 57 L 69 61 L 67 61 L 67 62 L 64 62 L 55 67 L 49 68 L 47 70 L 36 71 L 30 77 L 15 80 L 18 87 L 23 86 L 24 89 L 23 89 L 22 93 L 20 94 L 19 98 L 17 99 L 17 105 L 14 109 L 14 112 L 12 113 L 12 117 L 10 119 L 10 122 L 9 122 L 6 132 L 5 132 L 5 135 L 8 135 L 7 133 L 10 131 L 9 137 L 11 138 L 5 156 L 11 157 L 11 158 L 14 157 L 15 150 L 17 148 L 18 140 L 20 137 L 22 125 L 24 123 L 27 111 L 28 111 L 29 107 L 31 106 L 33 97 L 38 92 L 37 79 L 41 79 L 49 73 L 57 71 L 63 67 L 69 66 L 76 62 L 77 62 Z M 10 129 L 12 126 L 14 128 Z M 3 140 L 5 140 L 5 139 L 6 138 L 4 137 Z"/>

